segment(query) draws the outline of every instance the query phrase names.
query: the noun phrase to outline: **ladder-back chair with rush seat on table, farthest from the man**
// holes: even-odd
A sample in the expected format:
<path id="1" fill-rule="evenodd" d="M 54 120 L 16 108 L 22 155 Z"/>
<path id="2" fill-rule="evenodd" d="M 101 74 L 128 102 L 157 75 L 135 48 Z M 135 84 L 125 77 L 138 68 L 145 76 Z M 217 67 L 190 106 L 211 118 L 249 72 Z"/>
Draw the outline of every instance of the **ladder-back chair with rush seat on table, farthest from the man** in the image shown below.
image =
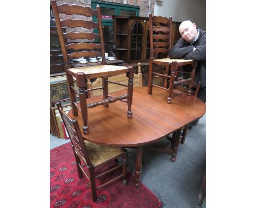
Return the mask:
<path id="1" fill-rule="evenodd" d="M 78 115 L 78 111 L 82 114 L 84 121 L 83 133 L 89 133 L 88 126 L 88 108 L 94 108 L 99 105 L 108 107 L 109 103 L 115 101 L 123 101 L 127 103 L 127 117 L 132 118 L 131 105 L 132 105 L 132 92 L 133 92 L 133 68 L 117 65 L 105 65 L 105 53 L 104 53 L 104 41 L 102 32 L 102 21 L 101 21 L 101 10 L 97 5 L 96 9 L 90 7 L 82 7 L 80 5 L 68 5 L 60 4 L 57 5 L 56 1 L 51 1 L 57 32 L 60 38 L 61 50 L 63 59 L 66 67 L 66 76 L 68 83 L 68 91 L 71 99 L 72 112 L 74 116 Z M 74 16 L 75 15 L 75 16 Z M 79 16 L 78 16 L 79 15 Z M 63 18 L 61 18 L 63 17 Z M 79 17 L 79 19 L 77 19 Z M 91 21 L 97 20 L 98 22 Z M 63 33 L 61 27 L 67 27 L 67 32 Z M 76 29 L 79 32 L 70 32 L 70 28 Z M 98 34 L 90 32 L 90 29 L 97 29 Z M 98 39 L 99 43 L 96 42 L 72 42 L 68 43 L 68 39 L 80 41 L 80 39 L 95 40 Z M 102 64 L 83 66 L 77 68 L 71 68 L 71 58 L 81 57 L 102 57 Z M 126 73 L 128 84 L 120 84 L 117 82 L 108 81 L 108 77 Z M 74 87 L 73 77 L 77 81 L 77 88 Z M 89 79 L 102 78 L 102 87 L 88 89 L 87 83 Z M 108 94 L 108 83 L 122 85 L 127 87 L 127 94 L 112 97 Z M 87 103 L 87 93 L 91 90 L 102 89 L 103 99 L 100 102 Z M 79 102 L 75 97 L 75 94 L 79 95 Z"/>

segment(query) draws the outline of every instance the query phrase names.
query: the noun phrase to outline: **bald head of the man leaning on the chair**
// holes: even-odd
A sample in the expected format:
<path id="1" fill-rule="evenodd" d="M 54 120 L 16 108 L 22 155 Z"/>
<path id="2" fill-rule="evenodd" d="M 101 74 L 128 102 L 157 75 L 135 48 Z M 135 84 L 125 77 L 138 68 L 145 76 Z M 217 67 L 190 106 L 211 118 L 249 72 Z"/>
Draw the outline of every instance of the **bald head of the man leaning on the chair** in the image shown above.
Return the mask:
<path id="1" fill-rule="evenodd" d="M 187 42 L 193 42 L 197 37 L 197 29 L 195 23 L 186 20 L 179 26 L 179 33 L 181 33 L 182 38 Z"/>

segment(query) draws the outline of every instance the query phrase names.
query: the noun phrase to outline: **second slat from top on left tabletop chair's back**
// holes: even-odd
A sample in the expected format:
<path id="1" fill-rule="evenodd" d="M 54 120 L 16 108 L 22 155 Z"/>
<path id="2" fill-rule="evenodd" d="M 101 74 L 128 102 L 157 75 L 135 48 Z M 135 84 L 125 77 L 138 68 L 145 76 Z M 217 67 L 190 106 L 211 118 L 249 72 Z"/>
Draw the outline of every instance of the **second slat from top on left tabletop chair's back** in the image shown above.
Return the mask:
<path id="1" fill-rule="evenodd" d="M 85 20 L 61 20 L 61 27 L 68 27 L 68 28 L 74 28 L 74 27 L 85 27 L 87 29 L 92 29 L 92 28 L 98 28 L 98 23 L 97 22 L 92 22 L 92 21 L 85 21 Z"/>

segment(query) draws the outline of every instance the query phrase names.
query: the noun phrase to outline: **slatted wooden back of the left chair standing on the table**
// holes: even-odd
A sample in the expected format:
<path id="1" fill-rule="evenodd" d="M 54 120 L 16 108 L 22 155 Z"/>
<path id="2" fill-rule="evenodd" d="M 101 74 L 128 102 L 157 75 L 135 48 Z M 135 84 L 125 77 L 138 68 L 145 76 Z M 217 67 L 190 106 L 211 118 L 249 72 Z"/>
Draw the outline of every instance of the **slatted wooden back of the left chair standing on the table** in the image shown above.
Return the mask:
<path id="1" fill-rule="evenodd" d="M 65 64 L 68 65 L 71 58 L 97 56 L 101 56 L 102 64 L 106 64 L 100 6 L 92 9 L 66 3 L 57 5 L 55 0 L 51 4 Z M 63 33 L 61 27 L 66 27 L 67 32 Z M 98 34 L 94 32 L 96 30 Z"/>

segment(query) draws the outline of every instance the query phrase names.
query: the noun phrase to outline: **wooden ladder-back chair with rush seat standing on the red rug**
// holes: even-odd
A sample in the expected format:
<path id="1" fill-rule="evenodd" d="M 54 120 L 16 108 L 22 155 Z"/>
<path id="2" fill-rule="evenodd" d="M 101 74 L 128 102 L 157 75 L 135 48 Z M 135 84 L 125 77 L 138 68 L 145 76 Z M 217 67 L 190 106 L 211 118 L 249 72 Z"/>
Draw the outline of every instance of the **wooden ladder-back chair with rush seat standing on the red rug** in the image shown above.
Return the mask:
<path id="1" fill-rule="evenodd" d="M 96 201 L 96 190 L 108 185 L 110 182 L 114 182 L 120 178 L 123 178 L 123 183 L 126 185 L 127 150 L 114 146 L 95 144 L 84 140 L 82 133 L 80 132 L 77 120 L 72 120 L 71 118 L 67 117 L 66 113 L 62 110 L 60 103 L 57 103 L 57 107 L 72 143 L 79 179 L 83 178 L 84 174 L 90 182 L 91 200 Z M 118 166 L 112 167 L 103 173 L 95 175 L 96 168 L 106 165 L 116 160 L 118 157 L 123 157 L 123 162 L 121 164 L 118 164 Z M 86 167 L 88 170 L 84 170 L 84 167 Z M 96 187 L 95 179 L 120 167 L 123 168 L 123 173 L 121 175 L 118 175 L 114 179 Z"/>

